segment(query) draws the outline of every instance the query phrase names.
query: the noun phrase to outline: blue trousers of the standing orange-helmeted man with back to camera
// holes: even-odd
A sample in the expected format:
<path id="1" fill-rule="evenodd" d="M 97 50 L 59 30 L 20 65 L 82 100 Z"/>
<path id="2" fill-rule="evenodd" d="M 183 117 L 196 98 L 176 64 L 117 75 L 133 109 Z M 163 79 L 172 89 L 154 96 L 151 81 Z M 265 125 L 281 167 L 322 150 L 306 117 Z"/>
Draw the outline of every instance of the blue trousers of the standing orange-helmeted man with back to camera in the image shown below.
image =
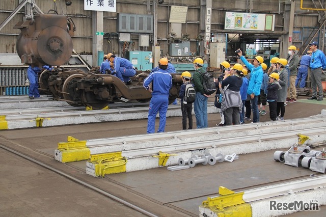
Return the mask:
<path id="1" fill-rule="evenodd" d="M 152 95 L 149 103 L 147 133 L 155 132 L 155 118 L 159 114 L 159 126 L 157 132 L 164 132 L 167 122 L 167 111 L 169 106 L 169 95 L 155 94 Z"/>

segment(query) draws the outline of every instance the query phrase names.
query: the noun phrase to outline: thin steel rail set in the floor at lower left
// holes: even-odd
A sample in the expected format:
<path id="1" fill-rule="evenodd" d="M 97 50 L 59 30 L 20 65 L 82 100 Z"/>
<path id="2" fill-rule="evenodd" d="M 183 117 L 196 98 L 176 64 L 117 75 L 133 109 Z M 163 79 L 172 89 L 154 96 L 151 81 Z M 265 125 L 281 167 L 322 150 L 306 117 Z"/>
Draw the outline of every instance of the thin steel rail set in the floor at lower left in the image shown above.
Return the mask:
<path id="1" fill-rule="evenodd" d="M 60 170 L 57 170 L 56 168 L 53 168 L 53 167 L 51 167 L 51 166 L 48 166 L 48 165 L 44 164 L 43 162 L 41 162 L 41 161 L 39 161 L 39 160 L 36 160 L 36 159 L 34 159 L 34 158 L 32 158 L 32 157 L 29 157 L 29 156 L 27 156 L 27 155 L 25 155 L 25 154 L 22 154 L 22 153 L 20 153 L 20 152 L 18 152 L 18 151 L 15 151 L 15 150 L 13 150 L 13 149 L 11 149 L 11 148 L 8 148 L 8 147 L 6 147 L 6 146 L 3 146 L 3 145 L 1 145 L 1 144 L 0 144 L 0 148 L 2 148 L 2 149 L 4 149 L 4 150 L 7 150 L 7 151 L 9 151 L 9 152 L 11 152 L 11 153 L 13 153 L 13 154 L 15 154 L 15 155 L 18 155 L 18 156 L 20 156 L 20 157 L 22 157 L 22 158 L 24 158 L 24 159 L 26 159 L 26 160 L 32 161 L 32 162 L 34 162 L 35 164 L 37 164 L 37 165 L 39 165 L 39 166 L 41 166 L 41 167 L 44 167 L 44 168 L 46 168 L 46 169 L 48 169 L 48 170 L 50 170 L 50 171 L 52 171 L 52 172 L 55 172 L 55 173 L 57 173 L 57 174 L 59 174 L 59 175 L 65 177 L 65 178 L 67 178 L 67 179 L 70 179 L 70 180 L 72 180 L 72 181 L 74 181 L 74 182 L 76 182 L 76 183 L 78 183 L 78 184 L 81 184 L 81 185 L 83 185 L 83 186 L 86 186 L 86 187 L 92 189 L 93 191 L 95 191 L 95 192 L 97 192 L 97 193 L 99 193 L 99 194 L 101 194 L 101 195 L 104 195 L 104 196 L 106 196 L 106 197 L 108 197 L 108 198 L 111 198 L 111 199 L 113 199 L 113 200 L 115 200 L 115 201 L 118 201 L 119 203 L 122 203 L 122 204 L 124 204 L 124 205 L 130 207 L 131 209 L 137 210 L 137 211 L 139 211 L 139 212 L 141 212 L 141 213 L 143 213 L 143 214 L 145 214 L 145 215 L 148 215 L 148 216 L 158 217 L 157 215 L 155 215 L 155 214 L 153 214 L 153 213 L 151 213 L 151 212 L 149 212 L 149 211 L 147 211 L 147 210 L 145 210 L 145 209 L 142 209 L 142 208 L 140 208 L 140 207 L 138 207 L 138 206 L 135 206 L 135 205 L 133 205 L 133 204 L 131 204 L 131 203 L 129 203 L 129 202 L 127 202 L 127 201 L 125 201 L 125 200 L 119 198 L 119 197 L 116 197 L 116 196 L 114 196 L 114 195 L 112 195 L 112 194 L 110 194 L 110 193 L 107 193 L 107 192 L 103 191 L 102 189 L 100 189 L 100 188 L 98 188 L 98 187 L 95 187 L 94 185 L 91 185 L 91 184 L 89 184 L 89 183 L 87 183 L 87 182 L 84 182 L 84 181 L 82 181 L 82 180 L 80 180 L 80 179 L 77 179 L 77 178 L 75 178 L 75 177 L 73 177 L 73 176 L 71 176 L 71 175 L 68 175 L 67 173 L 64 173 L 64 172 L 62 172 L 62 171 L 60 171 Z"/>

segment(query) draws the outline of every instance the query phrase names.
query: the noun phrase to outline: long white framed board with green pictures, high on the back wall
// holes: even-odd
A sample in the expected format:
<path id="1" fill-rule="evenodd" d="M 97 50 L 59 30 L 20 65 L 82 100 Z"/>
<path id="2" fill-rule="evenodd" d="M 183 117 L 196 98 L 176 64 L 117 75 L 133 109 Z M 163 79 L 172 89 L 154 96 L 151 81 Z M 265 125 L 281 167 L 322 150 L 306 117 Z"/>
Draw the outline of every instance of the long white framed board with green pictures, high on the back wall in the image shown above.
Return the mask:
<path id="1" fill-rule="evenodd" d="M 225 13 L 225 30 L 274 31 L 274 14 Z"/>

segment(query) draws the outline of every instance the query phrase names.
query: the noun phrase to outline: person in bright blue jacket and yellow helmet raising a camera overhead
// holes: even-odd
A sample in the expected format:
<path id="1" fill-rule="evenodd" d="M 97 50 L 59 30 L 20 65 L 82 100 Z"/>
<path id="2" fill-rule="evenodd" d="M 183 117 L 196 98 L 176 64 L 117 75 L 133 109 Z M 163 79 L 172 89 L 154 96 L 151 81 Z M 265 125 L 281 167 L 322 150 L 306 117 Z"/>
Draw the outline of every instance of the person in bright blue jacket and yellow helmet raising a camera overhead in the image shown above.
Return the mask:
<path id="1" fill-rule="evenodd" d="M 264 59 L 260 56 L 256 56 L 253 64 L 249 63 L 246 58 L 242 56 L 242 51 L 240 49 L 236 50 L 237 55 L 239 55 L 240 60 L 244 63 L 247 68 L 251 71 L 248 90 L 247 93 L 250 95 L 251 108 L 253 111 L 253 123 L 259 122 L 259 108 L 258 108 L 258 96 L 260 94 L 260 86 L 263 81 L 263 69 L 261 64 Z"/>

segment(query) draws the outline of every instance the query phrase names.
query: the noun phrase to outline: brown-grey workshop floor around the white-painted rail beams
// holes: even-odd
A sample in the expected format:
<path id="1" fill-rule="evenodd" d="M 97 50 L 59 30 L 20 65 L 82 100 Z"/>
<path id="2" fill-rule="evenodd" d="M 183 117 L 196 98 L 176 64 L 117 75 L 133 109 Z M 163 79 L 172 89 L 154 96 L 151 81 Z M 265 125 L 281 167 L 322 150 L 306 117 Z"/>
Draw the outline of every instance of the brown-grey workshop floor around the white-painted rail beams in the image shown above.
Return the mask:
<path id="1" fill-rule="evenodd" d="M 285 119 L 317 115 L 326 108 L 326 100 L 306 100 L 306 97 L 299 99 L 295 103 L 288 103 Z M 260 117 L 261 121 L 269 121 L 268 113 Z M 194 117 L 194 126 L 195 120 Z M 208 120 L 209 127 L 214 127 L 216 123 L 220 122 L 220 115 L 208 115 Z M 53 156 L 47 154 L 48 151 L 46 151 L 57 148 L 58 142 L 66 141 L 68 135 L 79 140 L 87 140 L 143 134 L 146 133 L 146 125 L 147 120 L 130 120 L 4 130 L 0 131 L 0 144 L 99 186 L 136 205 L 147 207 L 149 211 L 159 216 L 167 216 L 165 215 L 167 213 L 169 216 L 186 216 L 188 214 L 198 216 L 198 206 L 207 199 L 207 196 L 216 195 L 221 185 L 238 191 L 250 186 L 261 186 L 270 181 L 307 177 L 313 173 L 307 169 L 293 168 L 275 162 L 273 160 L 274 151 L 267 151 L 240 155 L 239 160 L 232 163 L 223 162 L 214 166 L 198 165 L 195 168 L 178 172 L 157 168 L 112 174 L 102 179 L 93 178 L 80 170 L 79 168 L 82 167 L 80 165 L 83 162 L 62 164 L 54 160 Z M 180 130 L 181 128 L 180 117 L 168 118 L 166 131 Z M 0 213 L 2 214 L 0 215 L 142 216 L 128 207 L 3 149 L 0 149 L 0 164 L 2 165 L 0 168 L 0 192 L 2 193 L 0 194 Z M 182 214 L 176 211 L 178 209 L 186 211 Z M 309 215 L 315 216 L 315 213 L 320 216 L 320 212 L 309 212 Z"/>

